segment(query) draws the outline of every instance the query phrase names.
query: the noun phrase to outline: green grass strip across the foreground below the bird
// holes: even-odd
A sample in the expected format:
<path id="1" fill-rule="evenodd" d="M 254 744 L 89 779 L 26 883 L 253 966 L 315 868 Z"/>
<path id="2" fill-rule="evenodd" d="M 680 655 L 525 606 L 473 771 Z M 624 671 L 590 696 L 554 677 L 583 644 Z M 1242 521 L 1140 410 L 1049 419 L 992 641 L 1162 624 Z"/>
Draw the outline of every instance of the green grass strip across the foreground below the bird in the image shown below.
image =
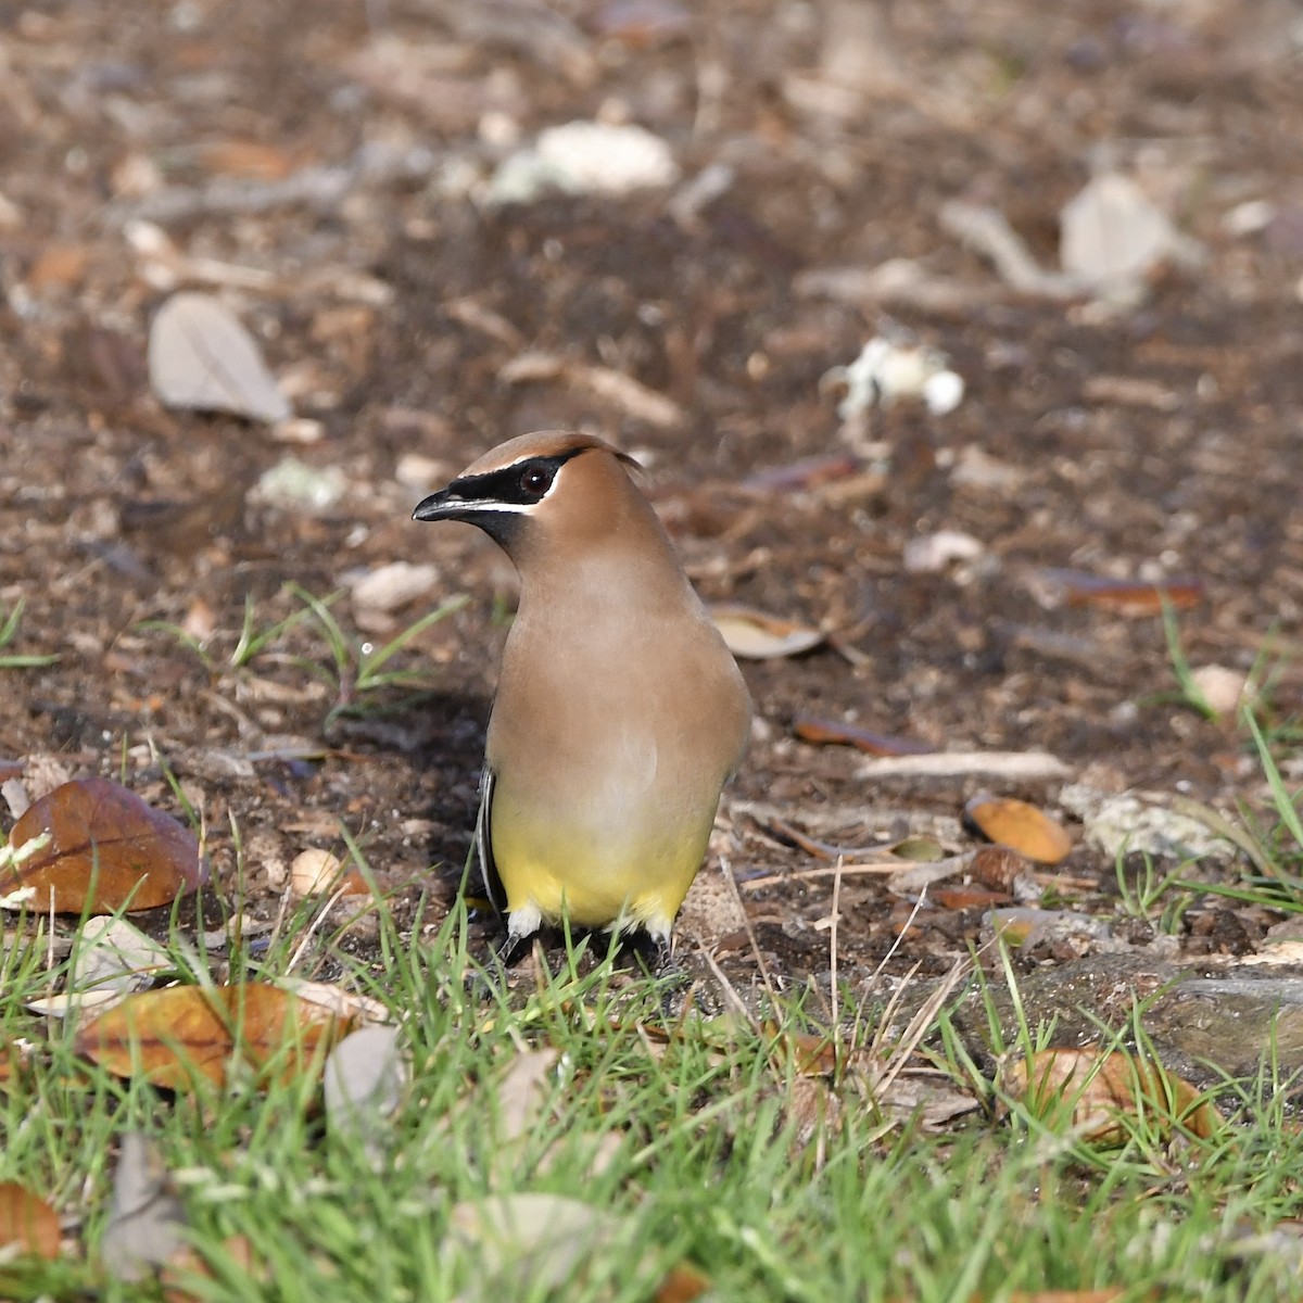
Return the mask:
<path id="1" fill-rule="evenodd" d="M 1209 1140 L 1145 1115 L 1121 1147 L 1091 1145 L 1007 1098 L 979 1066 L 988 1048 L 963 1046 L 943 1010 L 933 1058 L 990 1108 L 928 1136 L 885 1122 L 868 1097 L 856 1065 L 881 1029 L 874 1006 L 847 990 L 855 1029 L 814 1087 L 839 1109 L 820 1121 L 799 1108 L 808 1079 L 784 1049 L 831 1035 L 810 992 L 773 1003 L 762 1025 L 691 1010 L 667 1022 L 663 984 L 607 960 L 537 984 L 526 966 L 511 998 L 468 993 L 474 964 L 457 916 L 430 937 L 420 920 L 400 933 L 382 917 L 379 958 L 364 966 L 332 923 L 313 930 L 318 909 L 298 906 L 268 952 L 197 956 L 175 929 L 176 969 L 212 980 L 227 958 L 249 977 L 292 962 L 306 976 L 343 967 L 343 985 L 383 1002 L 409 1081 L 379 1156 L 322 1118 L 311 1078 L 171 1097 L 78 1059 L 69 1027 L 22 1009 L 48 988 L 43 946 L 7 952 L 0 1036 L 30 1042 L 31 1058 L 0 1089 L 0 1179 L 52 1199 L 85 1246 L 4 1267 L 7 1296 L 151 1296 L 96 1264 L 128 1128 L 152 1138 L 186 1234 L 216 1273 L 189 1282 L 201 1299 L 652 1299 L 679 1264 L 709 1277 L 715 1298 L 812 1303 L 1108 1286 L 1136 1300 L 1252 1303 L 1296 1287 L 1298 1260 L 1264 1238 L 1303 1213 L 1303 1135 L 1286 1126 L 1269 1065 L 1229 1096 L 1237 1121 Z M 989 1048 L 1007 1055 L 1044 1033 L 1024 1024 L 1005 1045 L 993 1029 Z M 555 1063 L 530 1124 L 507 1136 L 502 1084 L 529 1049 L 554 1050 Z M 455 1229 L 477 1201 L 525 1192 L 580 1200 L 601 1225 L 563 1287 L 537 1260 Z M 251 1244 L 253 1274 L 228 1237 Z"/>

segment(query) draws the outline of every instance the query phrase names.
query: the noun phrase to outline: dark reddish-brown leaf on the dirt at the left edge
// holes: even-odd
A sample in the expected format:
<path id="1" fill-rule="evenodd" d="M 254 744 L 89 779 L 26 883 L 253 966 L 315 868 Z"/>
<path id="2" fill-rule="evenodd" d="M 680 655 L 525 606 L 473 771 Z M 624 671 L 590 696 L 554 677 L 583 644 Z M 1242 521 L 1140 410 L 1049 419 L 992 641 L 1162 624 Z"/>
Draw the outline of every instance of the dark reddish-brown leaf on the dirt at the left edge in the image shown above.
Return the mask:
<path id="1" fill-rule="evenodd" d="M 107 778 L 77 778 L 30 805 L 9 837 L 14 850 L 50 843 L 0 873 L 0 895 L 31 887 L 33 909 L 112 913 L 152 909 L 207 881 L 194 834 Z"/>

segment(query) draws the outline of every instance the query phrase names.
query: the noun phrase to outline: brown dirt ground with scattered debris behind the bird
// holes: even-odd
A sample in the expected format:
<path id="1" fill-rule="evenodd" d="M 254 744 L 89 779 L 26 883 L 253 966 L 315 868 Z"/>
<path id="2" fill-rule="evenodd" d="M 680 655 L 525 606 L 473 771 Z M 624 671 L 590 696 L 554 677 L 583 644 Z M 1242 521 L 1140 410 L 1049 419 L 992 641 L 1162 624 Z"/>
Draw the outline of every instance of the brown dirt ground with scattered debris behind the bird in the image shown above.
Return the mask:
<path id="1" fill-rule="evenodd" d="M 1102 791 L 1260 799 L 1243 730 L 1174 700 L 1162 619 L 1072 601 L 1054 572 L 1197 585 L 1190 662 L 1243 672 L 1272 635 L 1272 717 L 1298 713 L 1300 50 L 1282 0 L 0 5 L 0 602 L 26 603 L 0 654 L 59 655 L 0 671 L 7 773 L 125 774 L 175 809 L 171 767 L 223 889 L 262 916 L 339 821 L 400 912 L 446 904 L 512 576 L 410 512 L 487 447 L 579 426 L 645 461 L 708 599 L 848 650 L 744 666 L 756 739 L 715 853 L 757 946 L 713 938 L 736 982 L 757 949 L 780 977 L 827 968 L 833 878 L 801 877 L 826 861 L 775 818 L 969 847 L 979 787 L 1053 812 L 1062 782 L 870 782 L 797 717 L 1048 751 Z M 500 162 L 572 120 L 640 124 L 679 179 L 490 203 Z M 1126 304 L 1010 288 L 942 220 L 995 207 L 1050 267 L 1059 210 L 1105 167 L 1197 244 Z M 866 285 L 890 259 L 921 283 Z M 249 327 L 298 423 L 160 405 L 149 324 L 186 288 Z M 947 354 L 958 408 L 844 422 L 826 373 L 881 334 Z M 287 456 L 336 468 L 337 500 L 259 489 Z M 839 460 L 757 480 L 808 457 Z M 939 530 L 979 547 L 908 568 Z M 437 584 L 388 612 L 349 597 L 396 560 Z M 358 694 L 311 620 L 229 666 L 246 603 L 258 629 L 304 610 L 287 581 L 343 590 L 339 623 L 377 644 L 470 602 L 391 665 L 431 692 Z M 1111 908 L 1098 850 L 1055 872 Z M 913 900 L 861 876 L 839 903 L 855 972 Z M 942 971 L 985 908 L 925 907 L 893 971 Z M 1274 921 L 1218 911 L 1182 943 L 1251 949 Z"/>

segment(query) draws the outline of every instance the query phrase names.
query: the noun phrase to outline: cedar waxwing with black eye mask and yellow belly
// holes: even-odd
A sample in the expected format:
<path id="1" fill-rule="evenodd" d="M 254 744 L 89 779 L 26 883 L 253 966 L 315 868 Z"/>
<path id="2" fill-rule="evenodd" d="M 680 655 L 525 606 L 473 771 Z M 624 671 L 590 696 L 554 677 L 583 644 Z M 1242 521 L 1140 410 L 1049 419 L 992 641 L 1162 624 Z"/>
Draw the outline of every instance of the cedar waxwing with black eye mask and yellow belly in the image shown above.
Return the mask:
<path id="1" fill-rule="evenodd" d="M 636 469 L 594 435 L 525 434 L 413 512 L 478 526 L 520 573 L 476 818 L 504 963 L 568 920 L 642 932 L 667 967 L 751 732 L 737 663 Z"/>

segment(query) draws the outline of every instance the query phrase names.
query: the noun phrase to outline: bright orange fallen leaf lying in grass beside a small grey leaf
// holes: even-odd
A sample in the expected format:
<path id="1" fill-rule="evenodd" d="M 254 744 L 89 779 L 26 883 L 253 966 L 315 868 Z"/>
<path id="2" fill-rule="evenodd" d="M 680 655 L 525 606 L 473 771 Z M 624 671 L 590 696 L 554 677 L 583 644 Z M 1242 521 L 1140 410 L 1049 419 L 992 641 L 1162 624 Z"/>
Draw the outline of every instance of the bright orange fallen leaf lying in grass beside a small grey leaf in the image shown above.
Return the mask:
<path id="1" fill-rule="evenodd" d="M 270 1084 L 318 1072 L 352 1024 L 268 982 L 168 986 L 128 995 L 87 1023 L 77 1053 L 169 1091 L 199 1078 L 223 1085 L 235 1065 Z"/>

